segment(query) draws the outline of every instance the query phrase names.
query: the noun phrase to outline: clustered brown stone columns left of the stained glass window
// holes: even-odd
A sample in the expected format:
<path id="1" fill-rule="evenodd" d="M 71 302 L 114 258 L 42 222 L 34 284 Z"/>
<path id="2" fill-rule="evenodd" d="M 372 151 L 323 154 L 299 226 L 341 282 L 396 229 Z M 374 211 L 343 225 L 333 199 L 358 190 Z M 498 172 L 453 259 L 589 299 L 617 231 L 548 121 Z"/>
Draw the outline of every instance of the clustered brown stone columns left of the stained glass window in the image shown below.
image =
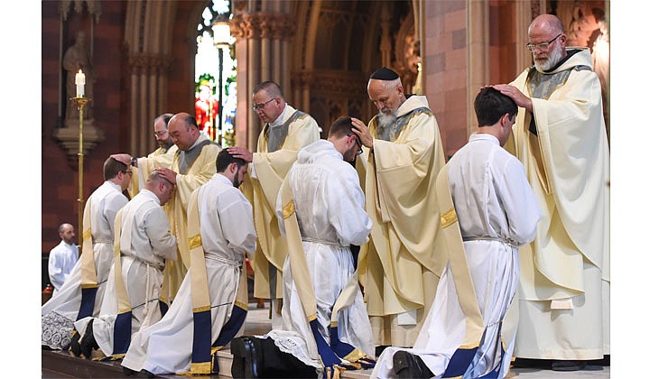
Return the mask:
<path id="1" fill-rule="evenodd" d="M 174 2 L 139 1 L 126 6 L 125 50 L 130 68 L 131 154 L 155 149 L 153 118 L 167 112 L 167 90 L 172 68 Z"/>

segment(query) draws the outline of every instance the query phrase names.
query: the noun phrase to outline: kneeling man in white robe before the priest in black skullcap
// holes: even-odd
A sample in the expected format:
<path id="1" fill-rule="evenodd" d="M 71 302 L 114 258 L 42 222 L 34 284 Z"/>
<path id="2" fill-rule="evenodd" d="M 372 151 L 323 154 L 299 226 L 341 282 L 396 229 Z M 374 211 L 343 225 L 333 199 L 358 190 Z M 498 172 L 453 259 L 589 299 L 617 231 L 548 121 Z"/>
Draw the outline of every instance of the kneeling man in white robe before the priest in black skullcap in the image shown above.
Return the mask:
<path id="1" fill-rule="evenodd" d="M 314 377 L 340 373 L 344 365 L 374 365 L 368 355 L 375 342 L 350 252 L 350 245 L 367 243 L 372 226 L 348 163 L 360 151 L 350 117 L 340 117 L 327 141 L 298 153 L 276 207 L 289 244 L 282 329 L 233 339 L 233 377 Z"/>

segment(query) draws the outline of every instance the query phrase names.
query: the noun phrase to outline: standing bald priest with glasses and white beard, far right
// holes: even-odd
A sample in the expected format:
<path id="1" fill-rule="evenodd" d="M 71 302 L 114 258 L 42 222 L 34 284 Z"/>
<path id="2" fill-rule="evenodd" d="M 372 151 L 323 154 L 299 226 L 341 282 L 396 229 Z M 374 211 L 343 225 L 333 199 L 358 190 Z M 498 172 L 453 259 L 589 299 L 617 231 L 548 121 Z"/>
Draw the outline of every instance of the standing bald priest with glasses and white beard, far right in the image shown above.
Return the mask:
<path id="1" fill-rule="evenodd" d="M 609 148 L 590 50 L 566 46 L 560 19 L 537 16 L 534 66 L 498 91 L 519 112 L 506 148 L 524 163 L 542 219 L 520 251 L 515 367 L 608 364 Z"/>

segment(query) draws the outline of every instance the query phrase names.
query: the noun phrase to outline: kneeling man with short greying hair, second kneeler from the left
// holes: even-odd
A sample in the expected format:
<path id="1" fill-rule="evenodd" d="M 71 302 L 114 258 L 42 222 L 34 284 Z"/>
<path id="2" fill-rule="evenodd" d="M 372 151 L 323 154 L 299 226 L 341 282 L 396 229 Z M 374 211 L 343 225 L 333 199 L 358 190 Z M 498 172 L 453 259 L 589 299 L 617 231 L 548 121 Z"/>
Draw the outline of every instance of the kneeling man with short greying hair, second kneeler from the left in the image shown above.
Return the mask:
<path id="1" fill-rule="evenodd" d="M 75 322 L 84 356 L 99 348 L 105 356 L 121 358 L 133 333 L 162 318 L 163 269 L 166 260 L 176 259 L 176 238 L 163 210 L 173 190 L 153 171 L 145 188 L 117 213 L 116 254 L 99 317 Z"/>

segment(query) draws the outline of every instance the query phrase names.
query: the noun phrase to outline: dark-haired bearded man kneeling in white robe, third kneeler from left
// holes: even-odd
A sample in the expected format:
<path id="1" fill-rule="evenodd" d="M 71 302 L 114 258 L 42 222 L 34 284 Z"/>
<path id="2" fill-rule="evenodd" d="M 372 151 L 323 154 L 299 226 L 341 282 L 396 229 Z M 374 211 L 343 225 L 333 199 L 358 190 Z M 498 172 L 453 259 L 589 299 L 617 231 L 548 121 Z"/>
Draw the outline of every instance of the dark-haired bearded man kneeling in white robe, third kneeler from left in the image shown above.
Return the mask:
<path id="1" fill-rule="evenodd" d="M 190 270 L 163 319 L 132 337 L 122 361 L 126 375 L 218 374 L 218 366 L 210 366 L 210 350 L 214 343 L 220 348 L 230 342 L 246 318 L 248 291 L 242 265 L 246 253 L 253 258 L 256 234 L 253 208 L 237 188 L 247 167 L 224 149 L 217 156 L 217 173 L 192 193 Z M 196 302 L 201 296 L 206 296 L 207 304 Z M 206 309 L 205 318 L 201 308 Z"/>

